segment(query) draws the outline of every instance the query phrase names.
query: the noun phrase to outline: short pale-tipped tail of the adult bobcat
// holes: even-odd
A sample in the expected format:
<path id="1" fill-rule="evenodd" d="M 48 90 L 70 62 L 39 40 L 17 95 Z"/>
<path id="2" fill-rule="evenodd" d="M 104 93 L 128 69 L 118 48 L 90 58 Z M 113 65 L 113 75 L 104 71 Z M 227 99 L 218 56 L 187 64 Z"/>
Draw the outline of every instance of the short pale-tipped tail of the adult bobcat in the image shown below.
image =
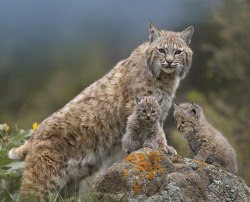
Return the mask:
<path id="1" fill-rule="evenodd" d="M 9 151 L 8 156 L 10 159 L 24 160 L 26 155 L 28 154 L 29 147 L 30 147 L 30 144 L 29 144 L 29 141 L 27 141 L 20 147 L 12 148 Z"/>

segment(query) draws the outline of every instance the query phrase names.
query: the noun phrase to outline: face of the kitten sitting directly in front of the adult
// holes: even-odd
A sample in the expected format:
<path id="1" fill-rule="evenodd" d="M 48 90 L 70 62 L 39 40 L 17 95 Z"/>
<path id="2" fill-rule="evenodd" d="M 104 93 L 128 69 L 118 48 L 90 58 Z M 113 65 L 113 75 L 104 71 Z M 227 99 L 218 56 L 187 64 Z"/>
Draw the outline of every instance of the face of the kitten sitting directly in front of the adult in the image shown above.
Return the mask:
<path id="1" fill-rule="evenodd" d="M 135 110 L 137 118 L 146 122 L 159 120 L 161 114 L 161 104 L 157 98 L 144 96 L 137 100 Z"/>

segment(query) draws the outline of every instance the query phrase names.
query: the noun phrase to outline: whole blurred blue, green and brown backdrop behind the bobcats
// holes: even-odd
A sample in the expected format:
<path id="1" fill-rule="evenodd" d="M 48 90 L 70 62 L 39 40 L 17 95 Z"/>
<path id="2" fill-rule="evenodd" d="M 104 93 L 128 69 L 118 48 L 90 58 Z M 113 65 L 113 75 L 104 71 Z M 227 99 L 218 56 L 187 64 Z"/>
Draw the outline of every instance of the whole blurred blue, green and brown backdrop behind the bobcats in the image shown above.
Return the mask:
<path id="1" fill-rule="evenodd" d="M 236 149 L 250 185 L 249 0 L 1 1 L 0 123 L 28 129 L 148 40 L 148 21 L 161 29 L 195 26 L 193 65 L 175 102 L 200 104 Z M 170 144 L 185 155 L 172 110 Z"/>

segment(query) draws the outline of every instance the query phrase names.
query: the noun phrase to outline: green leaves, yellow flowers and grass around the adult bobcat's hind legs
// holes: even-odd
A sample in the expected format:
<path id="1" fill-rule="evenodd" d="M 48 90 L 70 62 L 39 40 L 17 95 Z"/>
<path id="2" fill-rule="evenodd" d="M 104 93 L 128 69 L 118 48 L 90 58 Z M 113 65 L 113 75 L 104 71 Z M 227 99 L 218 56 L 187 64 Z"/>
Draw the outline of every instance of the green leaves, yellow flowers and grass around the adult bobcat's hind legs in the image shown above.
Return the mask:
<path id="1" fill-rule="evenodd" d="M 0 201 L 19 201 L 19 188 L 23 174 L 24 162 L 18 162 L 8 158 L 8 152 L 13 147 L 19 147 L 33 132 L 37 129 L 38 123 L 33 123 L 32 129 L 16 130 L 16 133 L 10 133 L 9 126 L 4 123 L 0 124 Z M 49 201 L 62 202 L 72 201 L 77 198 L 77 192 L 74 182 L 71 182 L 67 187 L 64 187 L 60 192 L 51 198 Z M 33 199 L 31 199 L 33 201 Z M 34 199 L 34 201 L 36 201 Z M 81 196 L 81 201 L 98 201 L 97 196 L 89 193 Z"/>

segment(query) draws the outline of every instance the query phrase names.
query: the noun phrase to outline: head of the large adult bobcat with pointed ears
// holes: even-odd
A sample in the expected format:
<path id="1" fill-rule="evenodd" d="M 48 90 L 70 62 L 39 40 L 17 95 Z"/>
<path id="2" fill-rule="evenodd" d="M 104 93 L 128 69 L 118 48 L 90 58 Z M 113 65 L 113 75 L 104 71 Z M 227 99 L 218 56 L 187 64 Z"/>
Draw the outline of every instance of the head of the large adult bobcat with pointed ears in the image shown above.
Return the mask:
<path id="1" fill-rule="evenodd" d="M 176 72 L 184 78 L 192 62 L 192 50 L 189 48 L 193 27 L 185 31 L 169 32 L 158 30 L 155 25 L 150 28 L 150 47 L 148 51 L 148 65 L 154 76 L 161 72 L 171 74 Z"/>

